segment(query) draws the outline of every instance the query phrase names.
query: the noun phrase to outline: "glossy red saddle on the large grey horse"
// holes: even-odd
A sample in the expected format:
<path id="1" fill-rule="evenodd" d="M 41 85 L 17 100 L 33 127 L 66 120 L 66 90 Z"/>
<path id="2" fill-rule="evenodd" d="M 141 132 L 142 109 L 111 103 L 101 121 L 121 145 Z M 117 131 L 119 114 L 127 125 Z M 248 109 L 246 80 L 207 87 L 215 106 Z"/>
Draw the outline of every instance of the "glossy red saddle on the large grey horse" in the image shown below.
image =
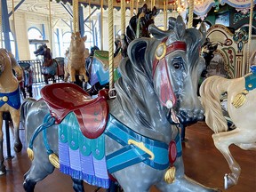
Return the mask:
<path id="1" fill-rule="evenodd" d="M 70 112 L 76 114 L 81 132 L 90 139 L 95 139 L 104 132 L 108 121 L 108 90 L 101 90 L 97 98 L 92 97 L 76 84 L 48 84 L 41 90 L 56 124 Z"/>

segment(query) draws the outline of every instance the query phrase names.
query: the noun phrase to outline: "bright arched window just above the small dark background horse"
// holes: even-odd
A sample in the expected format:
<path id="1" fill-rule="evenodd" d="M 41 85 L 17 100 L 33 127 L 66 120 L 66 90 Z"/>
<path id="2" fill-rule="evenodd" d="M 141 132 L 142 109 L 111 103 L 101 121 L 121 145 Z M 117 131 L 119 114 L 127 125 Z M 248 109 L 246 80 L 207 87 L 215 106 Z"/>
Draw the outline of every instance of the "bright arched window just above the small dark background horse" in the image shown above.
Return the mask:
<path id="1" fill-rule="evenodd" d="M 28 40 L 29 40 L 30 59 L 36 60 L 36 55 L 34 54 L 34 52 L 37 50 L 40 43 L 36 41 L 33 42 L 31 40 L 43 40 L 43 35 L 41 31 L 38 28 L 29 28 Z"/>

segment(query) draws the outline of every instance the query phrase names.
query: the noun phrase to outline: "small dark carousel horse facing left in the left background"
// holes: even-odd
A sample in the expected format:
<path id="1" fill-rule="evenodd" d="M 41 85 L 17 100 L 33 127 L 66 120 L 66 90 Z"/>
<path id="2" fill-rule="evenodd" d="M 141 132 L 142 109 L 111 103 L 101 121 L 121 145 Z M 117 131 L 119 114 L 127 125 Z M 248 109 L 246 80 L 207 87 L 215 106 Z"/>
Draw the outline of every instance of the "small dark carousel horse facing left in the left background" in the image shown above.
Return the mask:
<path id="1" fill-rule="evenodd" d="M 42 75 L 44 76 L 45 84 L 49 84 L 49 79 L 52 78 L 52 82 L 55 83 L 56 79 L 55 76 L 57 74 L 58 62 L 52 59 L 52 52 L 51 49 L 47 47 L 46 44 L 42 44 L 38 47 L 38 49 L 34 52 L 36 57 L 38 55 L 44 56 L 44 63 L 42 68 Z"/>

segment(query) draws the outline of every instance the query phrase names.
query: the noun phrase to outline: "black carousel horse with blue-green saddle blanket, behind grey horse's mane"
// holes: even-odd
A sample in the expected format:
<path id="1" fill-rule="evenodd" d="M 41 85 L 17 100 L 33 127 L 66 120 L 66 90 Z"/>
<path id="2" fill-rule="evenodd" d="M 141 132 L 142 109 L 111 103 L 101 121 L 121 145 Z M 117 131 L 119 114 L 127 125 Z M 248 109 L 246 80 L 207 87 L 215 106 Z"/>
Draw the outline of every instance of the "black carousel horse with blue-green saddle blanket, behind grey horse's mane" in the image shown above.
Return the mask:
<path id="1" fill-rule="evenodd" d="M 127 47 L 132 40 L 140 37 L 150 37 L 148 27 L 154 24 L 156 17 L 156 7 L 151 10 L 148 5 L 144 4 L 137 15 L 132 16 L 129 25 L 126 28 L 126 34 L 122 38 L 115 39 L 116 51 L 114 52 L 114 82 L 121 76 L 118 70 L 119 63 L 122 58 L 127 57 Z M 91 89 L 88 93 L 91 95 L 97 94 L 100 89 L 108 88 L 109 72 L 108 72 L 108 51 L 95 51 L 88 71 L 90 74 Z"/>

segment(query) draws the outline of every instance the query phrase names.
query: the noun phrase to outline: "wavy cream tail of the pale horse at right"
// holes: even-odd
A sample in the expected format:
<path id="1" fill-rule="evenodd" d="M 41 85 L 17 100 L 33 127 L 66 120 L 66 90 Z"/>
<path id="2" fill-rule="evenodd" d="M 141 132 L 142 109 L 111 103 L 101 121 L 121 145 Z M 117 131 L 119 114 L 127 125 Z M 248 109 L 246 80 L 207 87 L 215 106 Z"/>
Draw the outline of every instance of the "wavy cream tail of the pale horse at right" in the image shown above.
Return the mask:
<path id="1" fill-rule="evenodd" d="M 220 96 L 228 90 L 230 79 L 210 76 L 200 86 L 201 103 L 205 110 L 205 123 L 213 132 L 227 132 L 228 123 L 222 113 Z"/>

